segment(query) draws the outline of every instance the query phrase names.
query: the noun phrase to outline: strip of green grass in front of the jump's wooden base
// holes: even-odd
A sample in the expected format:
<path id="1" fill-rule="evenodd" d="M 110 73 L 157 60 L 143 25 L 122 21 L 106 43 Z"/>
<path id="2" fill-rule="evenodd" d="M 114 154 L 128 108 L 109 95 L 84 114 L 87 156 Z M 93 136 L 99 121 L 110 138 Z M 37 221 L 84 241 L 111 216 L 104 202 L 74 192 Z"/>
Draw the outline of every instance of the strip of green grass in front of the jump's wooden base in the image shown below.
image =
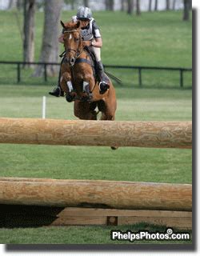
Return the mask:
<path id="1" fill-rule="evenodd" d="M 151 232 L 165 232 L 166 227 L 164 226 L 147 226 L 145 223 L 134 226 L 118 226 L 110 228 L 109 226 L 66 226 L 66 227 L 50 227 L 50 228 L 26 228 L 26 229 L 2 229 L 0 232 L 0 241 L 12 244 L 124 244 L 133 246 L 135 244 L 180 244 L 181 241 L 112 241 L 110 239 L 110 230 L 131 230 L 137 232 L 138 230 L 151 230 Z M 178 232 L 178 230 L 174 230 Z M 14 234 L 14 235 L 13 235 Z M 190 234 L 190 237 L 192 235 Z M 30 240 L 32 238 L 32 240 Z M 42 240 L 41 240 L 42 238 Z M 184 244 L 190 244 L 190 241 L 185 241 Z M 99 248 L 98 248 L 99 249 Z M 117 249 L 117 248 L 116 248 Z"/>

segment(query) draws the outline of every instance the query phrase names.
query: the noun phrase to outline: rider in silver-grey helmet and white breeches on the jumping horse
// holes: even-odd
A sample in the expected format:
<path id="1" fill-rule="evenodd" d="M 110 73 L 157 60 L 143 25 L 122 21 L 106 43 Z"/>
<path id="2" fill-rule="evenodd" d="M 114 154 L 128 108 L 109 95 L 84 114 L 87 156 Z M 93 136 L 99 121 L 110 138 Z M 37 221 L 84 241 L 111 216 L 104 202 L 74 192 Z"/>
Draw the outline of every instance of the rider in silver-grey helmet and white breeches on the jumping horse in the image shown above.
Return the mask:
<path id="1" fill-rule="evenodd" d="M 83 45 L 87 46 L 91 52 L 94 53 L 97 62 L 97 73 L 99 82 L 99 92 L 104 94 L 109 88 L 109 79 L 104 73 L 103 65 L 101 62 L 101 47 L 102 47 L 102 36 L 100 34 L 99 28 L 92 18 L 92 12 L 88 7 L 80 7 L 76 16 L 72 17 L 73 22 L 81 22 L 81 34 L 83 39 Z M 63 43 L 63 34 L 58 38 L 58 42 Z M 64 92 L 60 86 L 61 71 L 59 72 L 58 86 L 50 95 L 56 97 L 63 96 Z"/>

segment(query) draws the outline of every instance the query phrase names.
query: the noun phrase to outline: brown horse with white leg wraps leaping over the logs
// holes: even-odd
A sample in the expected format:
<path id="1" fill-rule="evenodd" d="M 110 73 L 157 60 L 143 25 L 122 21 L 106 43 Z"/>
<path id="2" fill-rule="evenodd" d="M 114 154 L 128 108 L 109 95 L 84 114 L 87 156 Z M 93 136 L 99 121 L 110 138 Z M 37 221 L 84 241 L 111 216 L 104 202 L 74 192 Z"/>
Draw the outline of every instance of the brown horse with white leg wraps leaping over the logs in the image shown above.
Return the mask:
<path id="1" fill-rule="evenodd" d="M 61 22 L 64 33 L 66 56 L 61 67 L 61 86 L 66 100 L 74 101 L 74 115 L 80 119 L 96 120 L 98 111 L 101 120 L 114 120 L 117 109 L 115 90 L 110 81 L 106 93 L 99 93 L 90 54 L 83 47 L 80 22 Z M 98 111 L 95 109 L 98 107 Z"/>

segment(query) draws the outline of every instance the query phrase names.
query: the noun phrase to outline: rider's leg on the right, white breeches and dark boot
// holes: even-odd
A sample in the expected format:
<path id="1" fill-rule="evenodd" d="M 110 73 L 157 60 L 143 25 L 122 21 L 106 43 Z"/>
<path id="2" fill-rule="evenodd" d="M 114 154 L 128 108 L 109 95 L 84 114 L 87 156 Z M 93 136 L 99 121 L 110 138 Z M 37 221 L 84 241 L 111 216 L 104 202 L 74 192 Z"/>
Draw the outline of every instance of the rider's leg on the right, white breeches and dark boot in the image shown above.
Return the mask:
<path id="1" fill-rule="evenodd" d="M 101 49 L 98 47 L 91 46 L 91 51 L 94 53 L 96 61 L 97 61 L 97 72 L 99 82 L 99 92 L 100 94 L 104 94 L 106 90 L 110 87 L 109 86 L 109 79 L 104 72 L 104 68 L 101 61 Z"/>

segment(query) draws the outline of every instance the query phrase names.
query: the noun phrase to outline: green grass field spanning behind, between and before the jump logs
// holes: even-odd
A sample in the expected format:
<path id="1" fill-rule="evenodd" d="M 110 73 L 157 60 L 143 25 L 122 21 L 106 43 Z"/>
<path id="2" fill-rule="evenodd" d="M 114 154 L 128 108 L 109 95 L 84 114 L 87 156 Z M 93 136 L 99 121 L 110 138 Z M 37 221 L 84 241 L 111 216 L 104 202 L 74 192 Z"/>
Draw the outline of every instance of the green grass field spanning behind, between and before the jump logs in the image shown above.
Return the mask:
<path id="1" fill-rule="evenodd" d="M 71 14 L 63 13 L 62 19 L 67 20 Z M 0 12 L 0 31 L 4 35 L 0 38 L 0 56 L 1 60 L 22 60 L 21 39 L 16 23 L 9 22 L 11 15 L 14 17 L 12 12 Z M 181 12 L 146 13 L 139 18 L 118 12 L 98 12 L 94 15 L 102 29 L 102 59 L 105 64 L 191 66 L 191 22 L 182 22 Z M 19 18 L 22 20 L 22 15 Z M 38 59 L 42 39 L 41 13 L 37 14 L 36 25 Z M 15 67 L 11 70 L 6 66 L 1 68 L 0 117 L 41 118 L 42 96 L 46 95 L 46 118 L 74 119 L 72 103 L 67 103 L 65 98 L 48 95 L 52 89 L 50 84 L 56 78 L 44 84 L 42 80 L 31 78 L 30 70 L 23 70 L 23 81 L 18 85 L 14 83 Z M 145 88 L 139 89 L 137 74 L 129 72 L 119 72 L 126 84 L 123 87 L 116 86 L 117 120 L 191 120 L 192 91 L 188 90 L 191 87 L 190 74 L 186 74 L 186 90 L 175 89 L 178 88 L 176 74 L 160 73 L 145 74 Z M 162 78 L 165 79 L 164 86 L 160 86 Z M 0 144 L 0 152 L 0 176 L 3 177 L 192 182 L 191 150 L 124 147 L 114 151 L 108 147 Z M 164 231 L 166 227 L 142 223 L 137 226 L 120 226 L 119 229 Z M 110 230 L 112 228 L 109 226 L 0 229 L 0 242 L 130 244 L 111 241 Z"/>

